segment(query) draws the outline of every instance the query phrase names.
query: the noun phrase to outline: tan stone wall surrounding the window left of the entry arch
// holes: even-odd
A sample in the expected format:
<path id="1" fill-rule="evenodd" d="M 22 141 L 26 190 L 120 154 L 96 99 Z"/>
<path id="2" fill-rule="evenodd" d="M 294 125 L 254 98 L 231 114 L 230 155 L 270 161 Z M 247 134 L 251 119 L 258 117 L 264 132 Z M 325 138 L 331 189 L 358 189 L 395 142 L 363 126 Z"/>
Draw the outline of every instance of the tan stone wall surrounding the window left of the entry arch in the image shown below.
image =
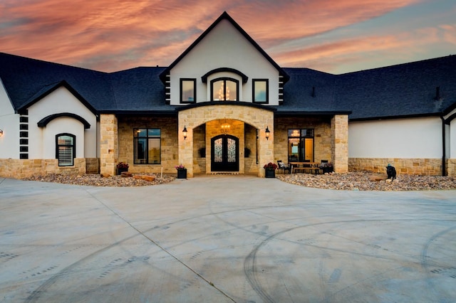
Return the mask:
<path id="1" fill-rule="evenodd" d="M 133 129 L 161 129 L 161 163 L 134 164 Z M 175 117 L 118 117 L 118 162 L 126 162 L 133 174 L 177 174 L 177 119 Z"/>

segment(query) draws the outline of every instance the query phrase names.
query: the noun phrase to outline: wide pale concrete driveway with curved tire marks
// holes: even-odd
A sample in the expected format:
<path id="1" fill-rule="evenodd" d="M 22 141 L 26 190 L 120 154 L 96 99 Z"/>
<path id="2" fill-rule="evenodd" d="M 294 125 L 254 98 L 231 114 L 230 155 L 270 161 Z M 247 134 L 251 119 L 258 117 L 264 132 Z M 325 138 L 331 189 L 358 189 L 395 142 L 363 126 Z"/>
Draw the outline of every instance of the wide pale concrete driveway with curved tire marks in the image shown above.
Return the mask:
<path id="1" fill-rule="evenodd" d="M 0 302 L 455 302 L 456 191 L 0 179 Z"/>

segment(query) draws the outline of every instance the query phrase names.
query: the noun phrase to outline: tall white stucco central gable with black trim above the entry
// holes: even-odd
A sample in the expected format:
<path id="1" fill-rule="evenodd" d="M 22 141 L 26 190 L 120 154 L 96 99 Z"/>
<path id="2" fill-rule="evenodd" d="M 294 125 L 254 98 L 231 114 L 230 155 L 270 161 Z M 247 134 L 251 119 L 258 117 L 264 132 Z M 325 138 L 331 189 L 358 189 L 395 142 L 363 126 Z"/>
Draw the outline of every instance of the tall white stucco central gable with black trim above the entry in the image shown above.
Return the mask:
<path id="1" fill-rule="evenodd" d="M 226 13 L 160 77 L 163 75 L 170 105 L 184 102 L 181 100 L 182 80 L 195 81 L 195 97 L 190 98 L 190 102 L 214 101 L 211 81 L 217 79 L 230 79 L 238 83 L 235 100 L 241 102 L 254 101 L 254 83 L 260 80 L 261 85 L 266 85 L 264 96 L 267 97 L 262 97 L 266 99 L 265 103 L 279 105 L 283 98 L 279 91 L 285 78 L 288 79 L 284 70 Z"/>

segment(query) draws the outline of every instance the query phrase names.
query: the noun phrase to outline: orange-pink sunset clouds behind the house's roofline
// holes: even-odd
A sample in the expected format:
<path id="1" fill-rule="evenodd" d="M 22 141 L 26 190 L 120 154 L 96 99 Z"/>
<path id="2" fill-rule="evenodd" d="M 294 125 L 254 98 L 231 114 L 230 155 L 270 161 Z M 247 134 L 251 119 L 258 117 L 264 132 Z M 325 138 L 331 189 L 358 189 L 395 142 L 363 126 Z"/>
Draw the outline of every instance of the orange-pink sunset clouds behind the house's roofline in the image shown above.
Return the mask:
<path id="1" fill-rule="evenodd" d="M 222 11 L 284 66 L 362 50 L 395 47 L 351 39 L 279 50 L 281 41 L 318 36 L 420 0 L 28 0 L 0 4 L 0 51 L 41 60 L 115 71 L 169 65 Z M 303 65 L 300 65 L 303 66 Z"/>

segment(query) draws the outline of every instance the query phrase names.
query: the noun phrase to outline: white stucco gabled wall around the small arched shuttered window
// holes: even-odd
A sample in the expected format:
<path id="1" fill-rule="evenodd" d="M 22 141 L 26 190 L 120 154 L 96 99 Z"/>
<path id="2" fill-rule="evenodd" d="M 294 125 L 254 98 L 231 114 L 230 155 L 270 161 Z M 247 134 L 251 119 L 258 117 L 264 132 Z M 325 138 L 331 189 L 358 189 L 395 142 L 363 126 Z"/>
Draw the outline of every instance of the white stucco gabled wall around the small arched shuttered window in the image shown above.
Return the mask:
<path id="1" fill-rule="evenodd" d="M 37 123 L 48 115 L 70 112 L 87 120 L 90 129 L 83 129 L 83 124 L 70 117 L 59 117 L 49 122 L 46 127 Z M 96 117 L 65 87 L 47 95 L 28 108 L 28 159 L 52 159 L 56 156 L 56 134 L 70 133 L 76 137 L 76 157 L 96 157 Z"/>

